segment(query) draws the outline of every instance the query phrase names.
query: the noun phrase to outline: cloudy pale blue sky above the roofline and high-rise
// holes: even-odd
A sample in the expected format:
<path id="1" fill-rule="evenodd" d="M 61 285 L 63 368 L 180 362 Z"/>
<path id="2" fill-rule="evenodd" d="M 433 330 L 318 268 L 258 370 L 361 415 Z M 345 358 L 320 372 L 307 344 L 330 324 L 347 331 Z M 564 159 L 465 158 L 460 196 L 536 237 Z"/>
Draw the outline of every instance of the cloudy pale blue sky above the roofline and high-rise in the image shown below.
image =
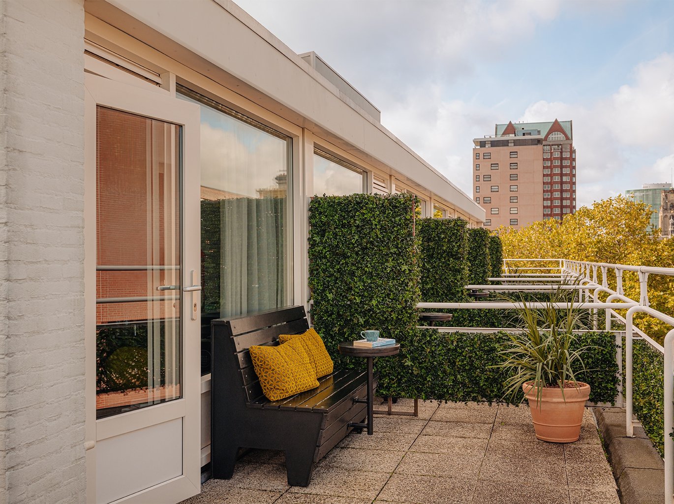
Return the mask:
<path id="1" fill-rule="evenodd" d="M 235 0 L 472 194 L 472 139 L 572 120 L 578 206 L 674 170 L 672 0 Z"/>

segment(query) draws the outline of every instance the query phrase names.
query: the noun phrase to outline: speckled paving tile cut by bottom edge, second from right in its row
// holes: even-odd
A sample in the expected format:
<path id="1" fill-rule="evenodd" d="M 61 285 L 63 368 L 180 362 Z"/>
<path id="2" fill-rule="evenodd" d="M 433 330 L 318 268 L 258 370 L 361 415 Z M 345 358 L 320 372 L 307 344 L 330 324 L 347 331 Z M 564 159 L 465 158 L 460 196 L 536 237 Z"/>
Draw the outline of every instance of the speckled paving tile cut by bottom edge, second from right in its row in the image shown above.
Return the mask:
<path id="1" fill-rule="evenodd" d="M 565 485 L 525 483 L 527 479 L 508 483 L 480 481 L 472 504 L 569 504 L 569 492 Z"/>

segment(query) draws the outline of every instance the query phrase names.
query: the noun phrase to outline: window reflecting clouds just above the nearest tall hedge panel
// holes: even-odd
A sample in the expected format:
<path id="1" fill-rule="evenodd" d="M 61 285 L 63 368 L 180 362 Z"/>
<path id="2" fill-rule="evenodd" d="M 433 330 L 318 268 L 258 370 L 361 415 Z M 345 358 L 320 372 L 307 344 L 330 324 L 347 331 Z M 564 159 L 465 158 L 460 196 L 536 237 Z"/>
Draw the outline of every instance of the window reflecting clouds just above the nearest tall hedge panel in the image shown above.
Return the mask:
<path id="1" fill-rule="evenodd" d="M 365 190 L 365 172 L 322 150 L 313 150 L 313 194 L 348 196 Z"/>

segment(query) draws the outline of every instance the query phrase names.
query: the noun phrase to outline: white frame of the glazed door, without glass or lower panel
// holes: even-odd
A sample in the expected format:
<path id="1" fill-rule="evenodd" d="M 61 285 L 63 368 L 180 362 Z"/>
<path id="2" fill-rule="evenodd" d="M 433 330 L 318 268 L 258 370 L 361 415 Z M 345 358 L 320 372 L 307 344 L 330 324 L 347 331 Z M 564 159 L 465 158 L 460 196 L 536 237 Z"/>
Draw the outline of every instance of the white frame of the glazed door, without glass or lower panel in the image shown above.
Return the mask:
<path id="1" fill-rule="evenodd" d="M 115 503 L 164 504 L 200 492 L 200 302 L 198 291 L 182 293 L 181 399 L 96 420 L 96 105 L 183 126 L 181 281 L 200 283 L 200 109 L 168 93 L 143 90 L 92 74 L 85 76 L 85 346 L 86 473 L 88 503 L 96 502 L 96 443 L 140 428 L 182 418 L 183 472 Z M 193 278 L 191 271 L 194 271 Z M 193 281 L 193 283 L 191 283 Z M 196 308 L 194 307 L 196 305 Z M 196 316 L 193 316 L 193 314 Z M 123 463 L 123 461 L 120 461 Z"/>

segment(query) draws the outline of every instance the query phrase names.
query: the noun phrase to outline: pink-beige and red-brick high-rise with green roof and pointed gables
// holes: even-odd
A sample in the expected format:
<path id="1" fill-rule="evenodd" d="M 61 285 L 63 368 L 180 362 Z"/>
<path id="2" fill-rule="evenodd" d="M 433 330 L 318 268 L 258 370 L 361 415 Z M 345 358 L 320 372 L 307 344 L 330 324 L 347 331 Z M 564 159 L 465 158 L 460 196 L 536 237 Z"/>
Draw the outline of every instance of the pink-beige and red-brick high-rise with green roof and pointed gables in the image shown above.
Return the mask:
<path id="1" fill-rule="evenodd" d="M 576 211 L 573 121 L 497 124 L 473 140 L 472 196 L 485 227 L 524 227 Z"/>

